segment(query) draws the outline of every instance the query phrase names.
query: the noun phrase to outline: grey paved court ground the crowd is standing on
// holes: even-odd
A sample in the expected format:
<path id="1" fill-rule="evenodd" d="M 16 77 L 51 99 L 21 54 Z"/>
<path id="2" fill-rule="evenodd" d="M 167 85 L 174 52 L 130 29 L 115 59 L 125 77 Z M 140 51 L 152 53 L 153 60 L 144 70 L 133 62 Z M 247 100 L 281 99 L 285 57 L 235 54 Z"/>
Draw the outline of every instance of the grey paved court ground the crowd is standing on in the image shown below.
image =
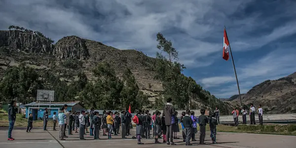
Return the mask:
<path id="1" fill-rule="evenodd" d="M 132 134 L 135 134 L 135 129 Z M 68 132 L 68 131 L 66 131 Z M 66 134 L 68 136 L 68 133 Z M 101 135 L 101 134 L 100 134 Z M 14 141 L 7 141 L 7 128 L 0 127 L 0 148 L 166 148 L 176 147 L 185 148 L 182 140 L 175 140 L 177 146 L 167 146 L 165 144 L 153 144 L 154 139 L 142 142 L 145 145 L 137 145 L 137 140 L 121 139 L 121 136 L 113 136 L 112 140 L 107 140 L 106 136 L 101 136 L 101 140 L 93 140 L 93 137 L 86 136 L 86 141 L 79 140 L 78 133 L 70 135 L 66 141 L 59 141 L 59 131 L 43 131 L 41 128 L 35 128 L 31 133 L 26 133 L 24 128 L 15 128 L 12 132 Z M 178 137 L 182 137 L 181 133 Z M 196 139 L 199 136 L 196 135 Z M 159 140 L 162 141 L 162 140 Z M 218 144 L 212 145 L 209 133 L 206 135 L 208 145 L 199 145 L 198 141 L 193 142 L 198 148 L 295 148 L 296 136 L 281 135 L 262 135 L 262 134 L 244 134 L 244 133 L 218 133 Z"/>

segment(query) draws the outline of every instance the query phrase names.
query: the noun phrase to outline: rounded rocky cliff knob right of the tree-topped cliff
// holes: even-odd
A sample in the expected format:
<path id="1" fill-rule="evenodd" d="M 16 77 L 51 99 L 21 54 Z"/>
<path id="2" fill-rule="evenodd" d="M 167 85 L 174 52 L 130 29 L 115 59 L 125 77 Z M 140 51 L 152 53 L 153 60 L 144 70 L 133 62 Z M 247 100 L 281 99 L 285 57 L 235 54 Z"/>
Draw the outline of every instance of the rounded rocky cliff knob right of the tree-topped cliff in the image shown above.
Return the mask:
<path id="1" fill-rule="evenodd" d="M 85 60 L 88 58 L 89 53 L 84 39 L 70 36 L 63 37 L 55 44 L 53 55 L 60 59 L 77 58 Z"/>

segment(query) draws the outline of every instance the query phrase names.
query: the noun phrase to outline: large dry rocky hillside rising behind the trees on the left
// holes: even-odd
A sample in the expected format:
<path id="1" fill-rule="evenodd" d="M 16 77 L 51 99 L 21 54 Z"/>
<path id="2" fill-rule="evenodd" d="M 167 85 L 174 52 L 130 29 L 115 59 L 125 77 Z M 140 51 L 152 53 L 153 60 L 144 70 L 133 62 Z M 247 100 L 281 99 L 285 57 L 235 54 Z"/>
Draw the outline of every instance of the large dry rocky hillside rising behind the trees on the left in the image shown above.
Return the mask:
<path id="1" fill-rule="evenodd" d="M 101 62 L 109 63 L 119 78 L 129 68 L 139 89 L 152 103 L 162 97 L 162 84 L 154 79 L 156 59 L 143 52 L 120 50 L 76 36 L 63 37 L 53 44 L 50 38 L 39 32 L 0 31 L 0 76 L 8 66 L 25 63 L 40 74 L 50 71 L 69 83 L 77 79 L 80 71 L 86 74 L 88 80 L 94 80 L 96 77 L 92 70 Z M 200 103 L 199 98 L 192 100 L 192 103 L 197 108 L 208 106 L 208 103 Z"/>

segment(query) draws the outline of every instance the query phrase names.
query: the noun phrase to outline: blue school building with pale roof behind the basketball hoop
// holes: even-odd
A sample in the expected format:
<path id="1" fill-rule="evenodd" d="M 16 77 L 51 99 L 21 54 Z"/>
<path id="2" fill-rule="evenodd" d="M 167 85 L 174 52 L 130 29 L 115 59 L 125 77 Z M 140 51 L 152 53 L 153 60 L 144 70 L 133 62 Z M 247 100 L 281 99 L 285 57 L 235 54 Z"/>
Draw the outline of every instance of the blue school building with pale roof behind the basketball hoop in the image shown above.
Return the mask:
<path id="1" fill-rule="evenodd" d="M 33 114 L 33 120 L 42 119 L 43 118 L 43 112 L 45 108 L 48 109 L 48 118 L 52 118 L 53 112 L 60 111 L 60 108 L 64 105 L 68 105 L 67 111 L 84 111 L 83 105 L 79 101 L 75 102 L 32 102 L 29 104 L 26 104 L 26 118 L 28 118 L 29 113 Z"/>

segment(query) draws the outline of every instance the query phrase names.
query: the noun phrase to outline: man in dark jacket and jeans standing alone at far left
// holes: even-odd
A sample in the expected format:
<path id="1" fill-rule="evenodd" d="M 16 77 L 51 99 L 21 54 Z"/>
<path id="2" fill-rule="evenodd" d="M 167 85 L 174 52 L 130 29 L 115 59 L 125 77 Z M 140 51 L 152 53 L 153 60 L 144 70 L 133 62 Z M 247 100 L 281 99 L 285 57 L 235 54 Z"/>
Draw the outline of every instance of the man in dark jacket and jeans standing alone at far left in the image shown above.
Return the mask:
<path id="1" fill-rule="evenodd" d="M 15 119 L 16 119 L 16 101 L 11 101 L 9 108 L 8 108 L 8 120 L 9 120 L 9 128 L 8 128 L 8 139 L 9 141 L 14 140 L 14 138 L 11 137 L 11 132 L 14 127 Z"/>

